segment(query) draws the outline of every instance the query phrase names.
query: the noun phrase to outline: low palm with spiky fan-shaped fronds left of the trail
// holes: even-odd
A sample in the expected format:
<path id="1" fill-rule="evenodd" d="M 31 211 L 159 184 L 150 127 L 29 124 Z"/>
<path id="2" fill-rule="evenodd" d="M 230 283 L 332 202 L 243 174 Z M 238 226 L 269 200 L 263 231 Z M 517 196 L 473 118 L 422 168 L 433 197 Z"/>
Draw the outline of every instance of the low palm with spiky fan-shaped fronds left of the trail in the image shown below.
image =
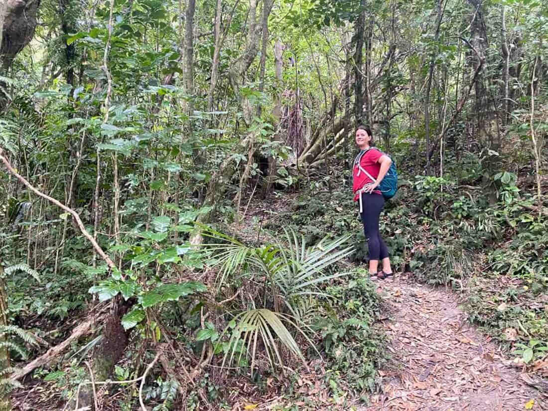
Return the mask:
<path id="1" fill-rule="evenodd" d="M 264 277 L 262 292 L 253 301 L 253 308 L 237 313 L 229 323 L 227 330 L 232 329 L 229 342 L 224 346 L 225 358 L 223 365 L 232 363 L 236 352 L 239 353 L 236 366 L 242 363 L 245 353 L 251 358 L 251 372 L 255 367 L 256 349 L 258 341 L 264 347 L 271 368 L 282 366 L 282 356 L 277 348 L 277 341 L 285 346 L 293 356 L 304 361 L 298 344 L 284 325 L 309 340 L 306 332 L 307 320 L 303 307 L 311 295 L 328 297 L 319 287 L 339 278 L 345 273 L 327 275 L 324 270 L 336 262 L 344 259 L 351 253 L 351 247 L 344 247 L 348 236 L 332 241 L 324 241 L 314 247 L 307 247 L 303 236 L 300 238 L 293 231 L 286 231 L 285 242 L 266 244 L 261 247 L 248 247 L 235 238 L 226 236 L 218 231 L 208 229 L 206 236 L 214 239 L 215 243 L 204 245 L 213 250 L 213 260 L 220 266 L 218 287 L 225 286 L 228 281 L 239 279 L 254 279 Z M 283 302 L 283 306 L 280 305 Z M 269 309 L 274 307 L 274 311 Z M 284 313 L 286 310 L 289 313 Z M 213 337 L 215 336 L 215 339 Z M 216 333 L 212 328 L 202 329 L 198 338 L 211 339 L 215 342 Z M 217 343 L 219 348 L 221 343 Z M 242 350 L 241 347 L 246 347 Z M 230 356 L 229 356 L 230 354 Z M 245 359 L 246 357 L 244 357 Z"/>

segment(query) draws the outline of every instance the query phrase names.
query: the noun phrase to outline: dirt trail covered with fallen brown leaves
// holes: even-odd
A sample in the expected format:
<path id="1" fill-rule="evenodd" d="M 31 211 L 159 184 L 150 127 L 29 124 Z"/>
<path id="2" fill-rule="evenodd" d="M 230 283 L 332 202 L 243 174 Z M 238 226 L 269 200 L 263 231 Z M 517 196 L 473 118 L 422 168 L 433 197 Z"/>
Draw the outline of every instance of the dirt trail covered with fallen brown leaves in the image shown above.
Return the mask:
<path id="1" fill-rule="evenodd" d="M 385 330 L 396 370 L 381 371 L 384 393 L 362 411 L 548 411 L 529 376 L 466 321 L 454 294 L 405 276 L 379 282 L 379 292 L 390 306 Z"/>

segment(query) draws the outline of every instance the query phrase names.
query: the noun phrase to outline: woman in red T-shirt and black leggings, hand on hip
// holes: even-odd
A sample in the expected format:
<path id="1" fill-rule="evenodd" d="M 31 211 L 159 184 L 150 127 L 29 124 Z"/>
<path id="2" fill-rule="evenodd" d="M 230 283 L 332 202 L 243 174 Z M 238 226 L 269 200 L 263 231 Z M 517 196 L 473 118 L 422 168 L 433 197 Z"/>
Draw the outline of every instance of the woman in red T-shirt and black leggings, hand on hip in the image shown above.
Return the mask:
<path id="1" fill-rule="evenodd" d="M 393 274 L 386 244 L 379 233 L 384 197 L 376 188 L 383 181 L 392 160 L 373 147 L 373 133 L 367 125 L 358 126 L 356 144 L 360 153 L 354 161 L 352 189 L 354 201 L 359 201 L 359 214 L 369 248 L 369 276 L 371 279 L 384 279 Z M 379 260 L 383 262 L 383 269 L 377 271 Z"/>

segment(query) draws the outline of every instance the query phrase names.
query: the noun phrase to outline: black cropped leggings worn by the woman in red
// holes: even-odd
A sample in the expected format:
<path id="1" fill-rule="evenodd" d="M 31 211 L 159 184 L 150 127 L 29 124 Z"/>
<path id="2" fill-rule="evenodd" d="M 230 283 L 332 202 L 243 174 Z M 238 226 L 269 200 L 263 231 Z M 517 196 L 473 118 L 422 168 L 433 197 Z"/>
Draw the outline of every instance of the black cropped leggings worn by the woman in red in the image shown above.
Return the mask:
<path id="1" fill-rule="evenodd" d="M 384 207 L 384 197 L 380 194 L 362 193 L 363 233 L 367 238 L 369 248 L 369 260 L 382 260 L 387 258 L 388 250 L 379 233 L 379 216 Z"/>

